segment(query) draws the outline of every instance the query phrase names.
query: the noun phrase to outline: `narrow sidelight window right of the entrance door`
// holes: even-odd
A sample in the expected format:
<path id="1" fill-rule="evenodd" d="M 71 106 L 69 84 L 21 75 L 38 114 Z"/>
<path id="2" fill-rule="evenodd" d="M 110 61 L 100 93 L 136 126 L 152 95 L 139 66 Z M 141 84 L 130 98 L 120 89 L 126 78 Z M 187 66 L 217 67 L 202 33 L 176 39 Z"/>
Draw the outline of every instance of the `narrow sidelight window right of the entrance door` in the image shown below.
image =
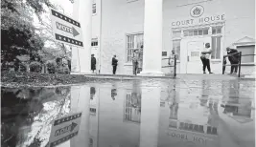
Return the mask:
<path id="1" fill-rule="evenodd" d="M 221 36 L 212 37 L 212 59 L 221 59 Z"/>

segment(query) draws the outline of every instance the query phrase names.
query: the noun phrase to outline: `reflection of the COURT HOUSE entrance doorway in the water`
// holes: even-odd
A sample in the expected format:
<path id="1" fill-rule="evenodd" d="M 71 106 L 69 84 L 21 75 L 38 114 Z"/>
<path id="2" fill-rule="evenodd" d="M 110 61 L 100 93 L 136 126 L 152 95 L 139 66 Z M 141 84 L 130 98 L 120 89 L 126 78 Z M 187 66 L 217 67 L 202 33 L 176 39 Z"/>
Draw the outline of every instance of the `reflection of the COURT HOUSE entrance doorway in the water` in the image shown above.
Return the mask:
<path id="1" fill-rule="evenodd" d="M 218 135 L 213 113 L 218 114 L 218 101 L 213 101 L 207 94 L 198 99 L 187 99 L 180 103 L 174 97 L 170 104 L 169 128 L 178 132 L 196 133 L 199 136 Z M 180 108 L 180 110 L 179 110 Z M 207 116 L 208 115 L 208 119 Z"/>

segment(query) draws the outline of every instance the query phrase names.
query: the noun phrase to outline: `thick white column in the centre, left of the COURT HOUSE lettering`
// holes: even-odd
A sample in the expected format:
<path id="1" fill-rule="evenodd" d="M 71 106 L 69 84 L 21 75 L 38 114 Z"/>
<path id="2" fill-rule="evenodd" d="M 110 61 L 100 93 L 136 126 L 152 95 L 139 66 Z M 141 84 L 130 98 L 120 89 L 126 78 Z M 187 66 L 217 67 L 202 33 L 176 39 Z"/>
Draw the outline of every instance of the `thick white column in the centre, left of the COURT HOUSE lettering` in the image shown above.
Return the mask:
<path id="1" fill-rule="evenodd" d="M 143 69 L 140 75 L 162 76 L 163 0 L 145 0 Z"/>

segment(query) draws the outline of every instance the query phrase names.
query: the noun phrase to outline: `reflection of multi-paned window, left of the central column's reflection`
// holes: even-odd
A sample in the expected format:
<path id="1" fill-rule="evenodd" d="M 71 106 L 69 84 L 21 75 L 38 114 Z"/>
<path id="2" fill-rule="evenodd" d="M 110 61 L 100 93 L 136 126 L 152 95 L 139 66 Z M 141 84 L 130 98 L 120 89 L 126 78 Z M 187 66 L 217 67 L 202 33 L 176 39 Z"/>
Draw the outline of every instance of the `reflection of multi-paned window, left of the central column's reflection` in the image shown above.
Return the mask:
<path id="1" fill-rule="evenodd" d="M 141 110 L 140 94 L 127 94 L 125 99 L 124 119 L 131 122 L 140 123 Z"/>

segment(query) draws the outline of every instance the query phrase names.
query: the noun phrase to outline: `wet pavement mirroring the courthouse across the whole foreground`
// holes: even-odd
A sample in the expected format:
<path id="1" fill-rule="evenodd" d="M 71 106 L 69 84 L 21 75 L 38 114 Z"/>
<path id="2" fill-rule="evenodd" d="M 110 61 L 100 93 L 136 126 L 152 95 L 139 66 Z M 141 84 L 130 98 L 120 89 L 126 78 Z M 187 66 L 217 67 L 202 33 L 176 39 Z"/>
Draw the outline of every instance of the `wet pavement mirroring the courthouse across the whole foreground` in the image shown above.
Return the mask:
<path id="1" fill-rule="evenodd" d="M 56 118 L 81 112 L 63 147 L 254 147 L 255 81 L 136 79 L 2 88 L 3 147 L 44 147 Z"/>

